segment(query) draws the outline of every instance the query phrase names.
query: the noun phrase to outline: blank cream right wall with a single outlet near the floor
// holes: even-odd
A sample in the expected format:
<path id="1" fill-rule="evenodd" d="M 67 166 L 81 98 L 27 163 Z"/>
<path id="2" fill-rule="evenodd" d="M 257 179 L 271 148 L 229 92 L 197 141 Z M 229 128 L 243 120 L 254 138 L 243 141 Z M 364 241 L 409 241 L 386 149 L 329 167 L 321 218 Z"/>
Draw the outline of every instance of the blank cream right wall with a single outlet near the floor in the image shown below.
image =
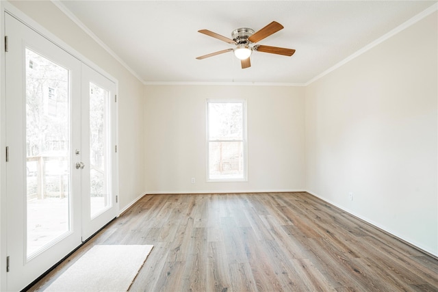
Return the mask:
<path id="1" fill-rule="evenodd" d="M 305 93 L 307 189 L 435 255 L 437 23 L 435 12 Z"/>

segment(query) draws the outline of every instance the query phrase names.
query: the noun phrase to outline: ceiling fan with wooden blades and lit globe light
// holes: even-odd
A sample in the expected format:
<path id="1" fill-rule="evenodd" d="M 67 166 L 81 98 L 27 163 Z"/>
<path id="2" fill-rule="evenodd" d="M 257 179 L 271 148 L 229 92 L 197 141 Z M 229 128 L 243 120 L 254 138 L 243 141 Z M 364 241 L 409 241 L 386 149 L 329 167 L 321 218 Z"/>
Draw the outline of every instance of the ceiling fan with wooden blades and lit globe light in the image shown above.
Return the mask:
<path id="1" fill-rule="evenodd" d="M 294 55 L 295 53 L 294 49 L 263 46 L 261 44 L 253 45 L 256 42 L 263 40 L 263 38 L 266 38 L 283 28 L 284 28 L 283 25 L 277 23 L 276 21 L 272 21 L 272 23 L 266 25 L 266 27 L 263 27 L 257 32 L 254 32 L 254 29 L 250 29 L 248 27 L 241 27 L 231 32 L 231 38 L 233 38 L 232 40 L 231 38 L 221 36 L 220 34 L 216 34 L 213 31 L 209 31 L 208 29 L 201 29 L 198 31 L 201 34 L 206 34 L 207 36 L 217 38 L 218 40 L 222 40 L 223 42 L 228 42 L 229 44 L 235 44 L 236 47 L 235 49 L 224 49 L 222 51 L 218 51 L 215 53 L 209 53 L 207 55 L 197 57 L 196 59 L 205 59 L 207 57 L 213 57 L 216 55 L 220 55 L 222 53 L 234 51 L 234 55 L 238 59 L 240 59 L 242 69 L 244 69 L 244 68 L 249 68 L 251 66 L 249 57 L 251 53 L 253 53 L 253 51 L 271 53 L 277 55 L 285 55 L 290 57 Z"/>

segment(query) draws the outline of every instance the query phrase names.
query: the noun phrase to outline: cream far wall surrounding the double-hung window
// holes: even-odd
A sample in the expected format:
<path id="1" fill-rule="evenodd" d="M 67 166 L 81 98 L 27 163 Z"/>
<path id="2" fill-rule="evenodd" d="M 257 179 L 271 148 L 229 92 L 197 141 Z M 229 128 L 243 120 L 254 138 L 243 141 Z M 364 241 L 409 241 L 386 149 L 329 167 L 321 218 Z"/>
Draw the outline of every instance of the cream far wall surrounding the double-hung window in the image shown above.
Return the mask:
<path id="1" fill-rule="evenodd" d="M 149 194 L 304 189 L 304 88 L 146 85 L 144 98 Z M 206 182 L 207 98 L 247 101 L 248 182 Z"/>

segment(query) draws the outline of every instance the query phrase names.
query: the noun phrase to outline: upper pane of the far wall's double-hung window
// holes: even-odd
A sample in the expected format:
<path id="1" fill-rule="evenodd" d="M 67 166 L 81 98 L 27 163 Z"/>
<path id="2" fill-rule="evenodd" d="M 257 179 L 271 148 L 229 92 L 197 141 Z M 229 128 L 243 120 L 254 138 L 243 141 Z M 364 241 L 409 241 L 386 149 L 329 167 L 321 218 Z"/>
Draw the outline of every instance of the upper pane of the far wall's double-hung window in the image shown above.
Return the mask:
<path id="1" fill-rule="evenodd" d="M 208 103 L 209 140 L 243 140 L 242 103 Z"/>

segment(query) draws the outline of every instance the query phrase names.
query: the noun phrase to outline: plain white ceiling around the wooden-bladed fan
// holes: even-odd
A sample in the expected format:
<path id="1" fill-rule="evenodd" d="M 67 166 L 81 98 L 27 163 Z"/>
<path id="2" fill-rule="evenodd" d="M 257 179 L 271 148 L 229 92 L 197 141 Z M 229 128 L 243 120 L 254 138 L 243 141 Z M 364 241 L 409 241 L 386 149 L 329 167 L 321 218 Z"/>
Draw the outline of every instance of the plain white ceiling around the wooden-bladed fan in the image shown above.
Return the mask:
<path id="1" fill-rule="evenodd" d="M 301 84 L 436 2 L 54 1 L 144 83 Z M 296 49 L 292 57 L 255 52 L 243 70 L 231 52 L 195 59 L 233 48 L 199 29 L 231 38 L 233 29 L 271 21 L 285 28 L 258 44 Z"/>

